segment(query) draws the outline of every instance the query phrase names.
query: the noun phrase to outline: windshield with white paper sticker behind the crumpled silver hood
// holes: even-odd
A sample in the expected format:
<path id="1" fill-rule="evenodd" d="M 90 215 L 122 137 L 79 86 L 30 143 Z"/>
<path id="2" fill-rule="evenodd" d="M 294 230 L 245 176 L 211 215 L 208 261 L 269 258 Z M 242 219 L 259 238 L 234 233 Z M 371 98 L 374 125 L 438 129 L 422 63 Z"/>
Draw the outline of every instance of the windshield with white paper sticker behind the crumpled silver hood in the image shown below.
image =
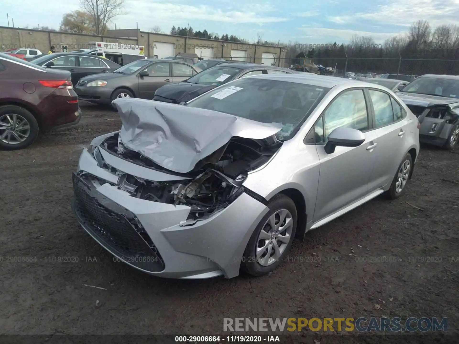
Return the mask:
<path id="1" fill-rule="evenodd" d="M 213 89 L 186 106 L 228 113 L 263 123 L 282 123 L 280 140 L 293 137 L 330 89 L 262 78 L 241 78 Z"/>

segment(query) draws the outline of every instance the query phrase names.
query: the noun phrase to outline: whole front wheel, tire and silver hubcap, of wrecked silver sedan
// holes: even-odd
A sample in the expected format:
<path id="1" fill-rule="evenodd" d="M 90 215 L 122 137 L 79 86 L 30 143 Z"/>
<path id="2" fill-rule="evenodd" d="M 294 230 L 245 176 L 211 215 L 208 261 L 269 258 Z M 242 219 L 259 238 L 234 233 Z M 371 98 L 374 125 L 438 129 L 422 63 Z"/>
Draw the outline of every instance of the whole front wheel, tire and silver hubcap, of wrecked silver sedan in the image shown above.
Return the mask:
<path id="1" fill-rule="evenodd" d="M 291 248 L 297 229 L 297 207 L 289 197 L 274 196 L 268 208 L 242 257 L 241 269 L 252 276 L 265 275 L 280 264 Z"/>

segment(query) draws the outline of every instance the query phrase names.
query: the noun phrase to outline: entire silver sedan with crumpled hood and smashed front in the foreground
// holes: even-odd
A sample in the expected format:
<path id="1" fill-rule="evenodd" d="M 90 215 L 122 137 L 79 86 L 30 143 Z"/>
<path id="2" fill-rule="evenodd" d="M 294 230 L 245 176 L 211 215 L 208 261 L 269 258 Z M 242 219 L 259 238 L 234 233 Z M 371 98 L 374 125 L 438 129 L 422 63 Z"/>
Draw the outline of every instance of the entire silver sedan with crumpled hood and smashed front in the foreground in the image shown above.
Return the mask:
<path id="1" fill-rule="evenodd" d="M 293 238 L 403 194 L 416 117 L 379 85 L 260 75 L 185 105 L 119 99 L 120 131 L 73 173 L 72 209 L 106 250 L 156 276 L 273 271 Z"/>

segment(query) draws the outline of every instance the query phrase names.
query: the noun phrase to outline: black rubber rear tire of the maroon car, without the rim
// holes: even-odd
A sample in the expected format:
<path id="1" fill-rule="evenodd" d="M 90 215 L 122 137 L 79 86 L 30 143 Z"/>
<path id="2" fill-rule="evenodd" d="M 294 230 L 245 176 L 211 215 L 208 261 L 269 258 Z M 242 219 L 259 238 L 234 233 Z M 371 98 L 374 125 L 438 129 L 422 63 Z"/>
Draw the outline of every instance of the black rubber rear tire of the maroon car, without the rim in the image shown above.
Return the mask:
<path id="1" fill-rule="evenodd" d="M 0 139 L 0 149 L 2 149 L 2 150 L 21 150 L 21 149 L 27 148 L 28 146 L 33 144 L 34 141 L 38 137 L 38 132 L 39 132 L 38 122 L 35 119 L 34 115 L 32 115 L 28 110 L 24 109 L 21 106 L 17 106 L 17 105 L 3 105 L 3 106 L 0 106 L 0 119 L 5 115 L 10 115 L 10 114 L 18 116 L 17 117 L 18 118 L 18 122 L 17 122 L 18 124 L 19 124 L 19 121 L 21 120 L 21 117 L 22 117 L 22 119 L 27 121 L 27 123 L 22 123 L 21 127 L 28 124 L 28 126 L 30 128 L 30 131 L 28 133 L 27 133 L 27 131 L 24 131 L 24 130 L 19 130 L 18 132 L 16 132 L 17 134 L 22 134 L 22 135 L 27 133 L 27 135 L 28 135 L 27 139 L 25 139 L 22 142 L 7 143 L 7 142 L 3 142 L 3 139 Z M 5 120 L 6 120 L 6 118 L 5 118 Z M 1 122 L 4 122 L 4 121 L 1 120 Z M 0 124 L 0 128 L 3 128 L 1 126 L 1 124 Z M 0 129 L 0 137 L 4 133 L 6 133 L 6 129 Z M 22 135 L 20 135 L 20 137 L 22 137 Z M 14 138 L 14 140 L 12 142 L 14 142 L 14 141 L 17 142 L 17 139 Z"/>

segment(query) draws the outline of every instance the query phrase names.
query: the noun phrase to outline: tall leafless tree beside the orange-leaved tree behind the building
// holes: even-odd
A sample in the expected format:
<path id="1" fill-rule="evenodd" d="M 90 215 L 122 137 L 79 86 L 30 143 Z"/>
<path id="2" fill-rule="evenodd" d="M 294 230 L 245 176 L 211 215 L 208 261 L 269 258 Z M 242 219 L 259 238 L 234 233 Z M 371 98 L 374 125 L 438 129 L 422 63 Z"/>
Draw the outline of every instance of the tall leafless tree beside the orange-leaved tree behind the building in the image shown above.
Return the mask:
<path id="1" fill-rule="evenodd" d="M 95 23 L 95 34 L 106 32 L 107 24 L 113 18 L 124 14 L 124 0 L 80 0 L 81 6 L 87 11 Z"/>

